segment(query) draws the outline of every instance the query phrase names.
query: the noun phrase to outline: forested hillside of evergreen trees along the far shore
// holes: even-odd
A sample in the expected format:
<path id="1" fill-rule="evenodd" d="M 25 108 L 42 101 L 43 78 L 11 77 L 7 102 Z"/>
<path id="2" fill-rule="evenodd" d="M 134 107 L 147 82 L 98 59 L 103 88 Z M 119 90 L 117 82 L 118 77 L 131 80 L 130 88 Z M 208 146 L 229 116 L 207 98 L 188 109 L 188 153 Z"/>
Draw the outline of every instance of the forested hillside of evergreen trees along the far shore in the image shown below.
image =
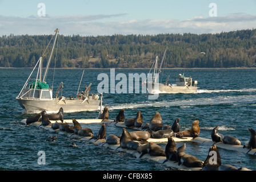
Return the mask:
<path id="1" fill-rule="evenodd" d="M 0 67 L 34 67 L 51 36 L 2 36 Z M 150 68 L 166 48 L 166 68 L 256 67 L 255 29 L 201 35 L 59 35 L 51 67 Z"/>

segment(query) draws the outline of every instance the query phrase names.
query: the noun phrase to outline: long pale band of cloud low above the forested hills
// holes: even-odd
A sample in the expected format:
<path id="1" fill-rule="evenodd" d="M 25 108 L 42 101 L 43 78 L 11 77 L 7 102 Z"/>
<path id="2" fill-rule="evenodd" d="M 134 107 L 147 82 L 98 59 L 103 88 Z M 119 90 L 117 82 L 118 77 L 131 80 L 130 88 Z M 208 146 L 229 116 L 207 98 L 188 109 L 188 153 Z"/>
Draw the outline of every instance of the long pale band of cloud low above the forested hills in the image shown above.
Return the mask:
<path id="1" fill-rule="evenodd" d="M 19 18 L 0 15 L 1 35 L 42 35 L 51 34 L 59 28 L 63 35 L 113 35 L 113 34 L 194 34 L 218 33 L 221 31 L 234 31 L 252 29 L 256 25 L 256 16 L 247 14 L 231 14 L 203 18 L 193 17 L 183 21 L 175 19 L 145 19 L 126 20 L 120 22 L 110 21 L 111 18 L 122 18 L 126 14 L 113 15 L 77 15 L 77 16 L 29 16 Z"/>

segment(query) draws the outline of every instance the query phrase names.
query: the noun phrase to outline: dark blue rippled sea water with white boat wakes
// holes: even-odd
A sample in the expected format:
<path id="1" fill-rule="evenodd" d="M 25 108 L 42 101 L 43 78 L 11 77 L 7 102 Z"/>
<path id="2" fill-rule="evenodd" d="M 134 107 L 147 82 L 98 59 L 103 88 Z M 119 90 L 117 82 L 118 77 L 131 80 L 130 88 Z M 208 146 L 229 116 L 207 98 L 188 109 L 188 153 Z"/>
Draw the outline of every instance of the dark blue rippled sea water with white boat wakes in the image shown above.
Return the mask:
<path id="1" fill-rule="evenodd" d="M 56 69 L 54 83 L 50 69 L 48 84 L 54 89 L 63 81 L 62 95 L 75 96 L 82 76 L 82 69 Z M 0 69 L 0 170 L 9 171 L 169 171 L 173 170 L 148 159 L 137 159 L 133 155 L 95 146 L 92 143 L 74 140 L 57 134 L 55 142 L 48 142 L 55 134 L 23 125 L 20 121 L 33 114 L 27 114 L 15 97 L 25 84 L 31 69 Z M 149 69 L 115 69 L 115 75 L 124 73 L 145 73 Z M 98 93 L 97 80 L 100 73 L 110 76 L 110 69 L 85 69 L 81 89 L 91 86 L 91 93 Z M 109 118 L 114 119 L 120 109 L 125 109 L 126 118 L 135 118 L 137 111 L 143 115 L 143 122 L 150 122 L 155 111 L 161 114 L 163 123 L 172 125 L 181 118 L 181 130 L 189 129 L 194 120 L 199 120 L 200 137 L 211 138 L 211 130 L 220 126 L 219 133 L 237 137 L 242 144 L 250 138 L 249 127 L 256 130 L 256 69 L 165 69 L 160 81 L 170 75 L 169 82 L 179 73 L 198 81 L 198 92 L 191 94 L 159 94 L 156 100 L 149 100 L 148 93 L 103 93 L 103 106 L 109 107 Z M 109 80 L 110 81 L 110 80 Z M 115 85 L 119 80 L 115 80 Z M 140 84 L 140 83 L 139 83 Z M 128 85 L 132 87 L 131 85 Z M 80 90 L 81 90 L 80 89 Z M 128 92 L 128 89 L 127 89 Z M 98 111 L 65 113 L 65 119 L 97 118 Z M 98 132 L 100 124 L 86 125 Z M 108 134 L 122 134 L 122 129 L 107 126 Z M 69 147 L 75 143 L 77 147 Z M 176 143 L 177 147 L 183 143 Z M 165 143 L 161 143 L 165 147 Z M 187 142 L 186 153 L 205 160 L 209 146 Z M 46 154 L 46 164 L 38 164 L 38 152 Z M 222 164 L 246 167 L 256 170 L 256 156 L 219 148 Z"/>

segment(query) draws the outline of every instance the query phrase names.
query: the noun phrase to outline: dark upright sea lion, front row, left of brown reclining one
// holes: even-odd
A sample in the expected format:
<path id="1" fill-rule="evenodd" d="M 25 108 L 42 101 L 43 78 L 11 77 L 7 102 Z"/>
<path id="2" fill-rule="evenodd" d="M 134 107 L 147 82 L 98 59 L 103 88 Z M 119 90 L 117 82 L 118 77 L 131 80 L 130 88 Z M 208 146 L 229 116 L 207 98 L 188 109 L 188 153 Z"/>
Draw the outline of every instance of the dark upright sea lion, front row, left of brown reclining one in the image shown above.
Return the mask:
<path id="1" fill-rule="evenodd" d="M 168 142 L 165 147 L 166 160 L 163 163 L 166 163 L 168 160 L 177 161 L 177 146 L 172 137 L 168 137 Z"/>

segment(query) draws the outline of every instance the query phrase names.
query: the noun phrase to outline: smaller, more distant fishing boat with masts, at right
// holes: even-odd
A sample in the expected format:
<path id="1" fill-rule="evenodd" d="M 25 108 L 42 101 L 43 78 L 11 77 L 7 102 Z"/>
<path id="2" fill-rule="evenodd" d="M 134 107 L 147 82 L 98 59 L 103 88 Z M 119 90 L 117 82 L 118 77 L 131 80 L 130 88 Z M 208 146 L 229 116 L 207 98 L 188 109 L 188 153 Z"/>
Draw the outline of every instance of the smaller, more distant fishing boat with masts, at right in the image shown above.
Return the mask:
<path id="1" fill-rule="evenodd" d="M 193 81 L 191 77 L 185 77 L 184 74 L 179 74 L 177 77 L 175 77 L 175 83 L 174 84 L 167 84 L 169 77 L 167 77 L 165 84 L 159 83 L 159 73 L 161 73 L 163 61 L 165 59 L 165 53 L 163 54 L 163 58 L 161 61 L 161 65 L 158 69 L 158 56 L 155 59 L 151 69 L 154 67 L 154 72 L 150 73 L 147 77 L 147 81 L 144 82 L 144 85 L 147 86 L 147 91 L 150 94 L 159 94 L 159 93 L 195 93 L 197 92 L 197 80 Z"/>

